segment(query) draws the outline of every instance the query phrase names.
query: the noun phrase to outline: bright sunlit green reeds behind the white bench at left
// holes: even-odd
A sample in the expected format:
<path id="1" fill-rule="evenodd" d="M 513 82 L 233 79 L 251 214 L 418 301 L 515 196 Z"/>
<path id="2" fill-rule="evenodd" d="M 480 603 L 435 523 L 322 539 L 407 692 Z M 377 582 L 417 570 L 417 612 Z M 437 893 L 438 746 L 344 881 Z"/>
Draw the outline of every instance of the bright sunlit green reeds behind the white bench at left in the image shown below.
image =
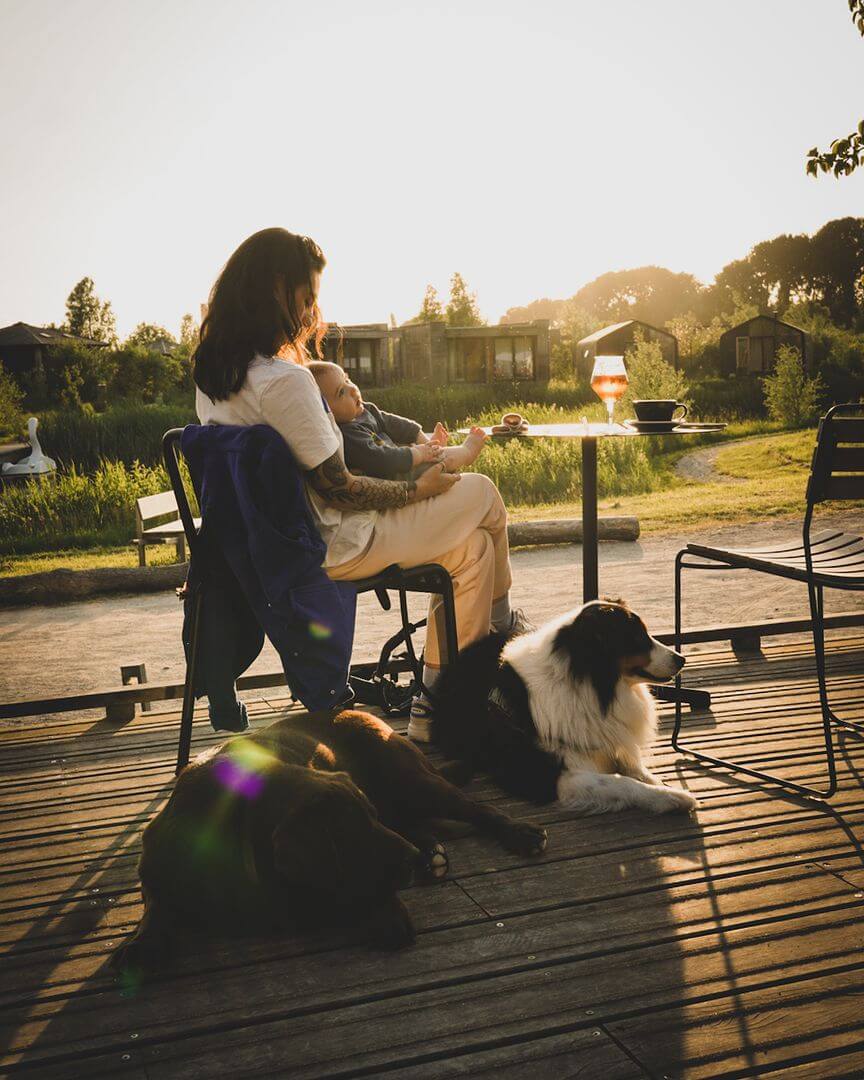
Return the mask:
<path id="1" fill-rule="evenodd" d="M 0 490 L 0 554 L 126 543 L 135 500 L 170 487 L 165 471 L 103 462 L 91 475 L 8 484 Z"/>

